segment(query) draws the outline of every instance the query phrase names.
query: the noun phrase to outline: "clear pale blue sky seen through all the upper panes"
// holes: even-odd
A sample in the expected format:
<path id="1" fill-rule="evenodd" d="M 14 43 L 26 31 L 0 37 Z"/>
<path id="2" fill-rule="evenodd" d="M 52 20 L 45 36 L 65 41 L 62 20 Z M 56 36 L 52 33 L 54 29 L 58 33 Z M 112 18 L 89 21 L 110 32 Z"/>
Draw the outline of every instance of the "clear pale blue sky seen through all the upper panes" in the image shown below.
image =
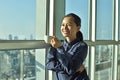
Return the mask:
<path id="1" fill-rule="evenodd" d="M 66 14 L 74 12 L 81 17 L 84 38 L 89 35 L 88 0 L 66 0 Z M 112 0 L 97 0 L 97 38 L 111 39 Z M 0 37 L 5 35 L 35 34 L 36 0 L 0 0 Z"/>

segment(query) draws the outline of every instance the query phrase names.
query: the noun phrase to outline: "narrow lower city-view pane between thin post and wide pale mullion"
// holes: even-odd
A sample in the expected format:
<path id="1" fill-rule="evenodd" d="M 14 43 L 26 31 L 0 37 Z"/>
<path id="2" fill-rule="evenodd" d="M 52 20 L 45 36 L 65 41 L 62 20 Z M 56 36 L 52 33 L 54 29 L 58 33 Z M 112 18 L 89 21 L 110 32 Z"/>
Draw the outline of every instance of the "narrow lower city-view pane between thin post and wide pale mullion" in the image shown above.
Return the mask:
<path id="1" fill-rule="evenodd" d="M 24 50 L 24 79 L 35 80 L 35 50 Z"/>

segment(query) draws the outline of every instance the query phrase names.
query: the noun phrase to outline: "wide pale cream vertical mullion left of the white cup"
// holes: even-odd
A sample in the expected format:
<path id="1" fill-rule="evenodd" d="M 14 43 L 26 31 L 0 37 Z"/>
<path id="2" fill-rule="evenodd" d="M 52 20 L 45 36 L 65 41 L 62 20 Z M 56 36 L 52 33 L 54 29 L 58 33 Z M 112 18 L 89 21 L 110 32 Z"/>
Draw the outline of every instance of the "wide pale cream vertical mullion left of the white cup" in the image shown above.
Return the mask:
<path id="1" fill-rule="evenodd" d="M 36 0 L 36 40 L 44 40 L 44 35 L 48 32 L 46 29 L 48 26 L 47 1 L 48 0 Z M 47 76 L 46 69 L 41 69 L 40 67 L 40 64 L 45 66 L 46 51 L 44 48 L 35 50 L 36 53 L 42 53 L 35 55 L 36 80 L 45 80 Z"/>

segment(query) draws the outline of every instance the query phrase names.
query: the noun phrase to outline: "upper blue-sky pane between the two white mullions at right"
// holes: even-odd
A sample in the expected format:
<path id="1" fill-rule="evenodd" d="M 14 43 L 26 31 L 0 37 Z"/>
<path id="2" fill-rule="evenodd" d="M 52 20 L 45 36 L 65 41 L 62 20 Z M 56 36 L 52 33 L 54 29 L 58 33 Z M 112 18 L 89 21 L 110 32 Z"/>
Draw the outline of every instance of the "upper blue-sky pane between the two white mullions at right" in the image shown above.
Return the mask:
<path id="1" fill-rule="evenodd" d="M 97 40 L 112 40 L 112 0 L 97 0 Z"/>

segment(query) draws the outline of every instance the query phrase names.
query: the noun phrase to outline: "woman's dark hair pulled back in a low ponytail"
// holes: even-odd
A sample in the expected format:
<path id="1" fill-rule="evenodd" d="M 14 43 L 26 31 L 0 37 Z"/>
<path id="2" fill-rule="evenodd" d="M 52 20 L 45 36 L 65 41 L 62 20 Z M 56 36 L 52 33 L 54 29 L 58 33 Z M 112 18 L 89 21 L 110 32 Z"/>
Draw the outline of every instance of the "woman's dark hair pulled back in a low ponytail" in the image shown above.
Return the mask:
<path id="1" fill-rule="evenodd" d="M 66 16 L 64 16 L 64 18 L 65 18 L 65 17 L 72 17 L 73 20 L 74 20 L 74 22 L 75 22 L 75 24 L 76 24 L 77 26 L 81 26 L 81 18 L 80 18 L 78 15 L 76 15 L 76 14 L 74 14 L 74 13 L 70 13 L 70 14 L 67 14 Z M 78 32 L 77 32 L 76 37 L 77 37 L 80 41 L 83 41 L 83 34 L 82 34 L 81 31 L 78 31 Z"/>

